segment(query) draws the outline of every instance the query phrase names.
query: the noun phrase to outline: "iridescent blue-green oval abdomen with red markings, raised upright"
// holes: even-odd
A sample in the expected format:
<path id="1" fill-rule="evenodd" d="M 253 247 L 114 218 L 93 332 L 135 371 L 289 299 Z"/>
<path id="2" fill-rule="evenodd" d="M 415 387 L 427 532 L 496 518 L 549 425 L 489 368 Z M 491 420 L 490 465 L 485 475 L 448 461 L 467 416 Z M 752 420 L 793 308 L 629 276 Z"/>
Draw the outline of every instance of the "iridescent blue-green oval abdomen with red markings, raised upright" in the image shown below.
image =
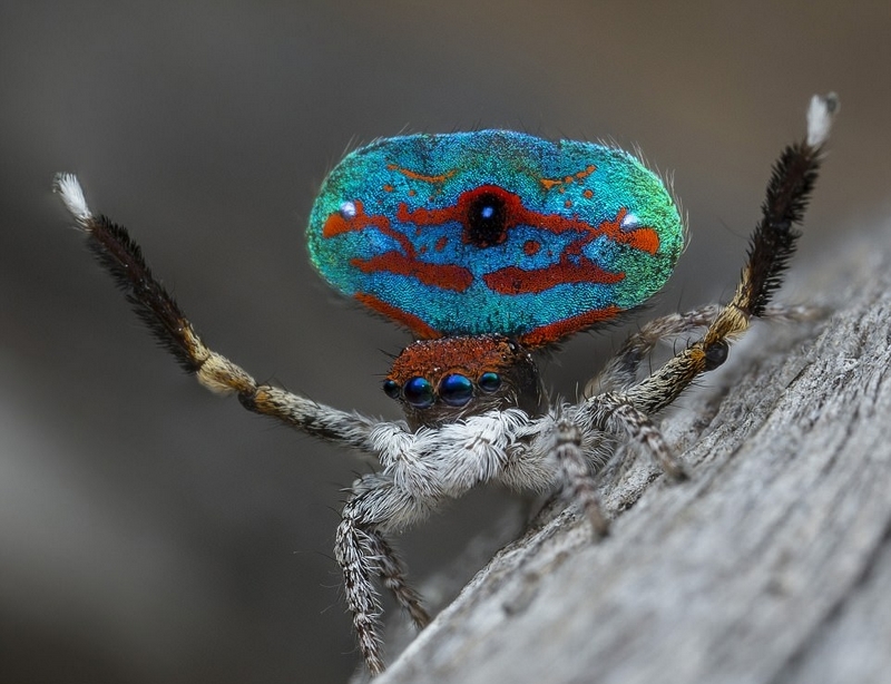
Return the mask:
<path id="1" fill-rule="evenodd" d="M 683 247 L 662 180 L 620 149 L 506 130 L 384 138 L 310 216 L 334 287 L 419 338 L 547 344 L 637 306 Z"/>

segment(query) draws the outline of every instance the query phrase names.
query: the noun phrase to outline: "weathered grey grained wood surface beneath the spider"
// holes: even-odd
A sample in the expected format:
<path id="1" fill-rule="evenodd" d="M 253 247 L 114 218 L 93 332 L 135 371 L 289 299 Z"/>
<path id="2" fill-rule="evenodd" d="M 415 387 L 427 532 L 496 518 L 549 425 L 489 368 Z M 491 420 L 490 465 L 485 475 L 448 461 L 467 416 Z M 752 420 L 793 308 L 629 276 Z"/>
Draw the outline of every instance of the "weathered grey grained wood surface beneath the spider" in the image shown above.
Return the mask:
<path id="1" fill-rule="evenodd" d="M 891 681 L 891 231 L 826 258 L 666 416 L 694 473 L 614 459 L 613 534 L 564 511 L 499 551 L 380 684 Z"/>

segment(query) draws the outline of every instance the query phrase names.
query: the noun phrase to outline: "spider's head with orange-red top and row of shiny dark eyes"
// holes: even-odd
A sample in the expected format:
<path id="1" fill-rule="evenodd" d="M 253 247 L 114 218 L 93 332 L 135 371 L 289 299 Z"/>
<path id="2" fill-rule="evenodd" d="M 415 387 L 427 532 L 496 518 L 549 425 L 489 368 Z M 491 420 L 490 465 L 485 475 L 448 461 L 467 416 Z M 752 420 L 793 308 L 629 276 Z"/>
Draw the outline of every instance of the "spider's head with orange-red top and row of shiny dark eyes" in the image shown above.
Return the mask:
<path id="1" fill-rule="evenodd" d="M 402 350 L 383 383 L 412 430 L 492 409 L 540 412 L 541 384 L 530 353 L 501 335 L 423 340 Z"/>

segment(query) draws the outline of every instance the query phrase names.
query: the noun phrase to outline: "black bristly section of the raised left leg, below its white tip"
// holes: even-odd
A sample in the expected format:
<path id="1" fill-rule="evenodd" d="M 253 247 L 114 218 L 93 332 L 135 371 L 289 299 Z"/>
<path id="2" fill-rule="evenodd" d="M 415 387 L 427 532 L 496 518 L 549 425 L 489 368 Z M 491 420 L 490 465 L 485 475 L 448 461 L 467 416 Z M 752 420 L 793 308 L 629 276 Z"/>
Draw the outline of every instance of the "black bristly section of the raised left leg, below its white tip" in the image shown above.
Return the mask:
<path id="1" fill-rule="evenodd" d="M 189 353 L 187 339 L 187 335 L 195 336 L 195 333 L 179 305 L 151 275 L 143 258 L 143 251 L 127 228 L 102 215 L 81 221 L 81 226 L 90 237 L 87 242 L 90 252 L 115 279 L 158 343 L 176 358 L 186 372 L 197 372 L 200 365 Z"/>

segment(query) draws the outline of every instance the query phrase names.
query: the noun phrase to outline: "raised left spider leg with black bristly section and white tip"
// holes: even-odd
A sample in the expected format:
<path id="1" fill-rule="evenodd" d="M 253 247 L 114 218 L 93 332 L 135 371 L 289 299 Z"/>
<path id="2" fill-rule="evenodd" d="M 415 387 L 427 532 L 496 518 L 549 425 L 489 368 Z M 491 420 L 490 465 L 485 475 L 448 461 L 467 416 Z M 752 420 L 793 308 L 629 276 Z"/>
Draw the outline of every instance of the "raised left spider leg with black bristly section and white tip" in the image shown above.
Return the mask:
<path id="1" fill-rule="evenodd" d="M 75 176 L 59 174 L 55 189 L 87 235 L 87 244 L 98 262 L 115 279 L 155 339 L 186 372 L 214 392 L 237 394 L 251 411 L 276 418 L 321 439 L 365 452 L 374 451 L 370 436 L 378 424 L 375 421 L 260 384 L 239 365 L 209 349 L 174 297 L 153 275 L 139 245 L 127 229 L 90 212 Z"/>

